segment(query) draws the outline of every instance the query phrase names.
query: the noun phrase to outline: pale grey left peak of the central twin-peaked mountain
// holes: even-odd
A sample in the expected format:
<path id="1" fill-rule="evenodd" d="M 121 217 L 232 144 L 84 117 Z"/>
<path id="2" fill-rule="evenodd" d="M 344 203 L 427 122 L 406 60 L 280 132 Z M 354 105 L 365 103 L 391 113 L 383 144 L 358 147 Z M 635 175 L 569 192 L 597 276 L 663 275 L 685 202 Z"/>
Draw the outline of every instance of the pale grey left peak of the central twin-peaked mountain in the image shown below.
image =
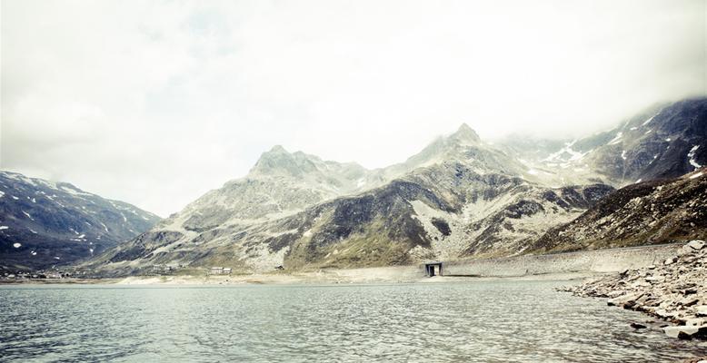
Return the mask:
<path id="1" fill-rule="evenodd" d="M 244 178 L 226 182 L 160 222 L 158 229 L 195 236 L 220 226 L 245 226 L 292 215 L 318 202 L 369 186 L 355 163 L 324 162 L 282 146 L 264 152 Z"/>

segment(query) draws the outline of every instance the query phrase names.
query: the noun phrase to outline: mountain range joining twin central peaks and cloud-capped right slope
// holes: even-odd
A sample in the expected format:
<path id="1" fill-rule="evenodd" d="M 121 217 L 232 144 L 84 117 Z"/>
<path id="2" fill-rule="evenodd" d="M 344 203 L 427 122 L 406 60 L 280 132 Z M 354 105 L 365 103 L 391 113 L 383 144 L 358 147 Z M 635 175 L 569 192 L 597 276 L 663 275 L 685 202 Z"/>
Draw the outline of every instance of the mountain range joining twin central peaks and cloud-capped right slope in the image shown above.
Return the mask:
<path id="1" fill-rule="evenodd" d="M 610 132 L 566 142 L 492 144 L 463 124 L 405 162 L 375 170 L 276 146 L 244 178 L 88 266 L 107 275 L 154 265 L 306 270 L 553 250 L 538 240 L 615 187 L 707 162 L 705 105 L 657 106 Z"/>

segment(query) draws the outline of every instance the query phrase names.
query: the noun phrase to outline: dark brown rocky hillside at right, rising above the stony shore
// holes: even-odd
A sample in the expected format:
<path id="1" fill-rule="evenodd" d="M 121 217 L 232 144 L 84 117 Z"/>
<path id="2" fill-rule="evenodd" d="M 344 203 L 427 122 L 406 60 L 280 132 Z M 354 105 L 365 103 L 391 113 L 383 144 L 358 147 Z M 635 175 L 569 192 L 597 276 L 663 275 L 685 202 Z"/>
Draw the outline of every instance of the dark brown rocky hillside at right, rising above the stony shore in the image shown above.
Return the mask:
<path id="1" fill-rule="evenodd" d="M 609 194 L 533 250 L 595 250 L 707 239 L 707 168 L 680 178 L 640 182 Z"/>

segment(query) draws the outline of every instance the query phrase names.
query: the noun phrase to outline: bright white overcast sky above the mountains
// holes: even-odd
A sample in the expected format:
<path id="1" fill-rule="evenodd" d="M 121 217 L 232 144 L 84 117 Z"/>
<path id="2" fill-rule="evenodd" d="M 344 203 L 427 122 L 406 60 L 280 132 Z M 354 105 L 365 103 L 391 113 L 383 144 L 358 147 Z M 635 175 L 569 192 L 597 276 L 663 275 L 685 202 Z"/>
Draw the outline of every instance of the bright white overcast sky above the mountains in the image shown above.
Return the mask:
<path id="1" fill-rule="evenodd" d="M 707 93 L 706 6 L 2 0 L 0 169 L 165 217 L 275 144 L 376 168 L 461 123 L 582 136 Z"/>

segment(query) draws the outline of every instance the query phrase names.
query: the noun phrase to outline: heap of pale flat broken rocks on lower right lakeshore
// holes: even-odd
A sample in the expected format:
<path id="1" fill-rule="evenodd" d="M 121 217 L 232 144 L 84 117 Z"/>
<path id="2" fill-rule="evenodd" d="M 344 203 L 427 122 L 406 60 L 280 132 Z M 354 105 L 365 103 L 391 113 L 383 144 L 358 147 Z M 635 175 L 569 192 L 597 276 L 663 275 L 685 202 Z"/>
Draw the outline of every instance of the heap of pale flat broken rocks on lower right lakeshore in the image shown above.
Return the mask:
<path id="1" fill-rule="evenodd" d="M 637 270 L 562 288 L 575 296 L 606 298 L 610 306 L 642 311 L 664 320 L 672 338 L 707 339 L 707 243 L 692 240 L 662 261 Z M 635 329 L 646 326 L 635 324 Z"/>

